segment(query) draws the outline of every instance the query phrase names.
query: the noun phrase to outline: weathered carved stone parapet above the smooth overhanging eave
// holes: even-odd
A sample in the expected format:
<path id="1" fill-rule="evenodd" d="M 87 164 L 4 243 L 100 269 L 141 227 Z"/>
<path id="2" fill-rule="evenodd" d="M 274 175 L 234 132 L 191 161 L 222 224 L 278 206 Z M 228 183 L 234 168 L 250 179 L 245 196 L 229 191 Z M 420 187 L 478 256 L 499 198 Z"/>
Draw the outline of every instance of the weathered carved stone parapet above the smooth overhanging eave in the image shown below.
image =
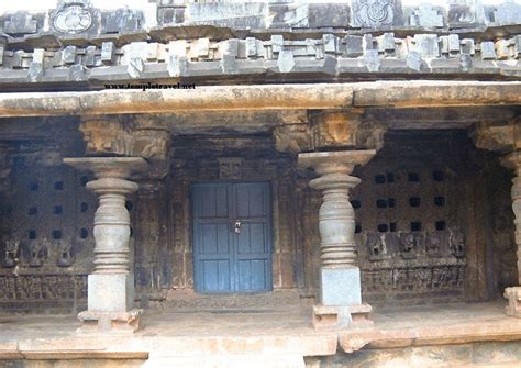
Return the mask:
<path id="1" fill-rule="evenodd" d="M 70 14 L 76 22 L 64 21 Z M 166 0 L 106 11 L 88 0 L 62 0 L 46 12 L 0 15 L 0 86 L 20 91 L 97 90 L 140 80 L 517 80 L 520 31 L 521 5 L 513 2 Z"/>

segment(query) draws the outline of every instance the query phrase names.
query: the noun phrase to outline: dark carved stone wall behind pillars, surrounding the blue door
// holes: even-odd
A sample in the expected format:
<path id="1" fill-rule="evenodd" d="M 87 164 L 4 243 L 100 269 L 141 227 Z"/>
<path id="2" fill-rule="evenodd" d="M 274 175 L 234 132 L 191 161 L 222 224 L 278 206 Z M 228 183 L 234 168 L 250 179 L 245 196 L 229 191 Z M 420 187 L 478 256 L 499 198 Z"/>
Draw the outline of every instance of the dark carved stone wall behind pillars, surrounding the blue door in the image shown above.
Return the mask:
<path id="1" fill-rule="evenodd" d="M 89 174 L 58 165 L 42 147 L 36 156 L 11 153 L 0 191 L 0 305 L 71 310 L 85 304 L 97 203 L 84 187 Z M 274 290 L 314 298 L 321 197 L 308 186 L 313 174 L 297 171 L 295 156 L 277 153 L 265 135 L 179 136 L 173 147 L 166 177 L 140 179 L 126 202 L 142 305 L 192 292 L 190 187 L 218 180 L 270 182 Z M 486 300 L 514 283 L 511 174 L 465 131 L 389 131 L 355 175 L 367 301 Z"/>

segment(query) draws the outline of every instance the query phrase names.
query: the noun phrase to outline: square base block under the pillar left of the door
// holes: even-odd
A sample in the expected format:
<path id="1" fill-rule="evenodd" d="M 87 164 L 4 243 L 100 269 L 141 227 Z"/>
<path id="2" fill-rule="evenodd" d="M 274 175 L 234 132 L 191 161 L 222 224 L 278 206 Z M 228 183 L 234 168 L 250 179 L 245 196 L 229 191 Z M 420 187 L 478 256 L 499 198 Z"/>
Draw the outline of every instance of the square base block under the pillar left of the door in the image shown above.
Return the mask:
<path id="1" fill-rule="evenodd" d="M 133 334 L 140 328 L 141 309 L 129 312 L 93 312 L 84 311 L 78 314 L 81 327 L 77 334 Z"/>

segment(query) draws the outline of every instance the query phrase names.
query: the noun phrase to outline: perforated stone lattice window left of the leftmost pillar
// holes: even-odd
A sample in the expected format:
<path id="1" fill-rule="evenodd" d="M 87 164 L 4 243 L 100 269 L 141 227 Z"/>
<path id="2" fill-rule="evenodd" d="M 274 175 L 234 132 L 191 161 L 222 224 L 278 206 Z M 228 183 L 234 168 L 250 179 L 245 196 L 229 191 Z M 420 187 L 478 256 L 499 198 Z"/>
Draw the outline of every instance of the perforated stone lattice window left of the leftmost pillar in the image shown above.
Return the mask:
<path id="1" fill-rule="evenodd" d="M 12 193 L 7 197 L 12 198 L 7 203 L 12 208 L 12 215 L 2 216 L 2 221 L 10 222 L 5 227 L 12 228 L 11 236 L 21 242 L 22 255 L 31 254 L 31 247 L 48 244 L 60 247 L 68 244 L 75 254 L 91 252 L 97 198 L 85 187 L 92 178 L 67 166 L 14 166 L 12 177 Z M 57 260 L 49 257 L 58 253 L 49 252 L 51 256 L 41 266 L 56 266 Z M 31 264 L 29 256 L 25 258 L 22 257 L 19 266 L 34 269 L 34 259 Z"/>

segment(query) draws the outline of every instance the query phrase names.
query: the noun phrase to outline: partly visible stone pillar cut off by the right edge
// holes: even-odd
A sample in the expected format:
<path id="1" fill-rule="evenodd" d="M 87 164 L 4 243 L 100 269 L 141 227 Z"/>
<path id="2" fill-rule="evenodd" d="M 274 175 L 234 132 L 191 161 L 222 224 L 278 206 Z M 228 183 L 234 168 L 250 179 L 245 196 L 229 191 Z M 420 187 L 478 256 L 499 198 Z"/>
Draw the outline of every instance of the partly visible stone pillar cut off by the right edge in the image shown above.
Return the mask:
<path id="1" fill-rule="evenodd" d="M 518 286 L 505 289 L 508 299 L 507 314 L 521 319 L 521 150 L 508 155 L 503 164 L 516 170 L 512 179 L 512 210 L 516 216 L 516 245 L 518 256 Z"/>

